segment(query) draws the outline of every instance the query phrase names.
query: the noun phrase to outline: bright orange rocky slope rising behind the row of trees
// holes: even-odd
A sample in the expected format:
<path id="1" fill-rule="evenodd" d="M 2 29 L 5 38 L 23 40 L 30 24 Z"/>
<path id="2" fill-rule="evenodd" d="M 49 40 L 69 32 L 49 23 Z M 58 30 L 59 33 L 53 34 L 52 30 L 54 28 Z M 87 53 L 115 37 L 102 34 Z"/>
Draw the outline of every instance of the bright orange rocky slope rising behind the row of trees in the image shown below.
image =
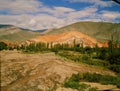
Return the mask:
<path id="1" fill-rule="evenodd" d="M 98 44 L 99 47 L 102 47 L 102 43 L 98 42 L 96 39 L 83 34 L 78 31 L 69 31 L 64 32 L 61 34 L 56 35 L 43 35 L 39 36 L 33 39 L 28 40 L 29 42 L 45 42 L 45 43 L 53 43 L 53 44 L 62 44 L 62 43 L 68 43 L 73 44 L 75 43 L 81 43 L 83 46 L 95 46 Z"/>

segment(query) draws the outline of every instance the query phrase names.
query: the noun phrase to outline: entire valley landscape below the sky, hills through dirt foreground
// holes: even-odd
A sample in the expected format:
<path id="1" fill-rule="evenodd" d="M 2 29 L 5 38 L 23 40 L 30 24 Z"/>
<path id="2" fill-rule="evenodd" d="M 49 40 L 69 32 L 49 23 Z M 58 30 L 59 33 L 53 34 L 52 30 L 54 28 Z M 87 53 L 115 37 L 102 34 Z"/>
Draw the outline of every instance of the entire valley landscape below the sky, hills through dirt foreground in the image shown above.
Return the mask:
<path id="1" fill-rule="evenodd" d="M 119 23 L 43 32 L 0 25 L 1 91 L 120 90 Z"/>

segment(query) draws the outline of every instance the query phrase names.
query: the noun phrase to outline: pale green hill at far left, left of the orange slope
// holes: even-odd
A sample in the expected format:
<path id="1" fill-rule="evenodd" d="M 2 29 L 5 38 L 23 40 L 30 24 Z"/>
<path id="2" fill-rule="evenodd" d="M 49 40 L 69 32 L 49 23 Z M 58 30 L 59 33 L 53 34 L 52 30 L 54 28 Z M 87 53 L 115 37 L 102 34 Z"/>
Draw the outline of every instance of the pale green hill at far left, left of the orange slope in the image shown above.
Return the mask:
<path id="1" fill-rule="evenodd" d="M 40 33 L 38 32 L 22 29 L 13 25 L 0 25 L 0 40 L 22 42 L 39 35 Z"/>

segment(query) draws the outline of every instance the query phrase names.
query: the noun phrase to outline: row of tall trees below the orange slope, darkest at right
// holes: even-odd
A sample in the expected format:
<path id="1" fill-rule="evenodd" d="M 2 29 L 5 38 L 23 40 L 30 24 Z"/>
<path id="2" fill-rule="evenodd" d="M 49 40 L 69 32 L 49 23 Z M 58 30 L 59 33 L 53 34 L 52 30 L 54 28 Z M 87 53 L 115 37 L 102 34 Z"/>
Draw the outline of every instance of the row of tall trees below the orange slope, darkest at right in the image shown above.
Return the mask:
<path id="1" fill-rule="evenodd" d="M 65 44 L 54 44 L 53 43 L 30 43 L 29 45 L 21 45 L 21 46 L 8 46 L 4 42 L 0 42 L 0 50 L 8 49 L 8 50 L 22 50 L 24 52 L 41 52 L 41 51 L 53 51 L 58 53 L 60 50 L 68 50 L 68 51 L 77 51 L 81 54 L 93 55 L 94 58 L 102 59 L 108 61 L 112 66 L 110 69 L 120 72 L 120 43 L 111 39 L 108 42 L 108 47 L 99 48 L 97 45 L 94 48 L 91 47 L 83 47 L 83 44 L 76 44 L 75 41 L 73 45 Z"/>

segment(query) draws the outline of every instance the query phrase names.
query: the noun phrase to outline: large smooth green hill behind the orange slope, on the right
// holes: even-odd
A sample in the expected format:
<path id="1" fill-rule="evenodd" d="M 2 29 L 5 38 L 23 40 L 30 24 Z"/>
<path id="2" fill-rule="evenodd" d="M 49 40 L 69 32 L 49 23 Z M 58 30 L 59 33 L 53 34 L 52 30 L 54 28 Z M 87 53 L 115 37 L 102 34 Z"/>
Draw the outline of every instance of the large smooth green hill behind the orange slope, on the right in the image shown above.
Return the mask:
<path id="1" fill-rule="evenodd" d="M 59 29 L 53 29 L 47 34 L 58 34 L 71 30 L 80 31 L 101 41 L 110 39 L 111 35 L 120 40 L 120 23 L 109 22 L 77 22 Z"/>

